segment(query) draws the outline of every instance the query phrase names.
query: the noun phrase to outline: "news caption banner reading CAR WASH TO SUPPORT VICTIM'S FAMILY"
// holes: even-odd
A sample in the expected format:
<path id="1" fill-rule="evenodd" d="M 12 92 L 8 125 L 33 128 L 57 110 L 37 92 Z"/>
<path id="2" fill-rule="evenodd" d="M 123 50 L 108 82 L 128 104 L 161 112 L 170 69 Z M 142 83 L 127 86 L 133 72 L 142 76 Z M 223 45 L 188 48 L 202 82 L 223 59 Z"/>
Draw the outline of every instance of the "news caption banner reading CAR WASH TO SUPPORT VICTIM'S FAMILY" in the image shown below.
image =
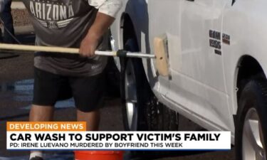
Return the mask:
<path id="1" fill-rule="evenodd" d="M 8 150 L 230 150 L 231 132 L 88 132 L 85 122 L 7 122 Z"/>

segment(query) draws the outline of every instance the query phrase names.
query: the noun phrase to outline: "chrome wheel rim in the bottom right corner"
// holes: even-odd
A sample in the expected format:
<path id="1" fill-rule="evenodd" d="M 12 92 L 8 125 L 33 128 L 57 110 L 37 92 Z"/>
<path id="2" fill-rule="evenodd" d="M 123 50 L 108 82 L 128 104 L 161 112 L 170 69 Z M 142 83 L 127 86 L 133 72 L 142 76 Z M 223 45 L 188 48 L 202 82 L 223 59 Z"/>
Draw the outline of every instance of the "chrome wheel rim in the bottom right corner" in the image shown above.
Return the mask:
<path id="1" fill-rule="evenodd" d="M 244 160 L 266 160 L 263 132 L 255 108 L 248 110 L 243 128 L 242 156 Z"/>

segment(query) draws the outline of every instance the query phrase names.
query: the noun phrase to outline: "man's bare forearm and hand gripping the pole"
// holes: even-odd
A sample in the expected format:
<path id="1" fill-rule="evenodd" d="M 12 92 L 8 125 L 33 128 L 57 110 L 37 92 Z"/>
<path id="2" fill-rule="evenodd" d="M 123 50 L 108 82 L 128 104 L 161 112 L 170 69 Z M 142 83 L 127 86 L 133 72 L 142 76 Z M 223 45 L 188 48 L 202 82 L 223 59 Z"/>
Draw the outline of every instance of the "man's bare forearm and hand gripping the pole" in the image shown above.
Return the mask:
<path id="1" fill-rule="evenodd" d="M 80 55 L 92 57 L 103 34 L 108 31 L 115 18 L 98 12 L 95 21 L 80 43 Z"/>

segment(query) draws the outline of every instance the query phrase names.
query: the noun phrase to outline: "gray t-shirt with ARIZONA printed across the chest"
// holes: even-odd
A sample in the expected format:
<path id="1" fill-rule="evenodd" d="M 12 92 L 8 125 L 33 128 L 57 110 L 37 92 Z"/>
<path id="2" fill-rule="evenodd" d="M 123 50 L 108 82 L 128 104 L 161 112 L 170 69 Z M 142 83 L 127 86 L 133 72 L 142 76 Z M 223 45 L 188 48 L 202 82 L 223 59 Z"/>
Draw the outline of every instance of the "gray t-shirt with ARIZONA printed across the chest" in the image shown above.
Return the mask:
<path id="1" fill-rule="evenodd" d="M 37 46 L 79 48 L 92 26 L 98 9 L 88 0 L 22 0 L 31 15 Z M 108 37 L 103 36 L 98 50 L 106 50 Z M 34 66 L 50 73 L 69 76 L 92 76 L 103 71 L 107 58 L 62 53 L 36 53 Z"/>

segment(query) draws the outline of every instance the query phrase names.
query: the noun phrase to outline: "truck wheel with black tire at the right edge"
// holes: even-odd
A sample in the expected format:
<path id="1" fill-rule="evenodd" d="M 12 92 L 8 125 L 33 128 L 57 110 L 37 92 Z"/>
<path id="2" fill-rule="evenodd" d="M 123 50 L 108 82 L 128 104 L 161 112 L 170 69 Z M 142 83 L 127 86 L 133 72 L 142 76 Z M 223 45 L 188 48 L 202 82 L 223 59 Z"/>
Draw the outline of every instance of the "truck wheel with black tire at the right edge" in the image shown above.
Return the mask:
<path id="1" fill-rule="evenodd" d="M 236 117 L 236 159 L 266 160 L 267 82 L 249 80 L 241 91 Z"/>

